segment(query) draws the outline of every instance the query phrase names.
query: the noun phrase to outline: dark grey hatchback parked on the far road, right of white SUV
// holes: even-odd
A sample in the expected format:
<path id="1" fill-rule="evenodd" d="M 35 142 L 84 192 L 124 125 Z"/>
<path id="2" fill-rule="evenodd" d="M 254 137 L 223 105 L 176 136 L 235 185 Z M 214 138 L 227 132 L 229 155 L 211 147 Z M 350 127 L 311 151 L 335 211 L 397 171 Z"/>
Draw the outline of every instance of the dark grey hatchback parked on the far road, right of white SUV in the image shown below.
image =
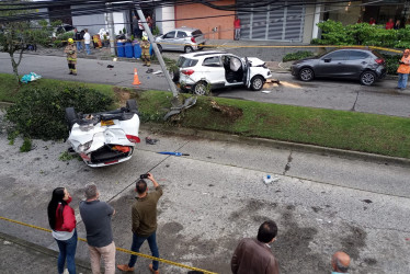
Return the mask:
<path id="1" fill-rule="evenodd" d="M 348 78 L 371 85 L 386 76 L 386 62 L 375 50 L 341 48 L 322 56 L 295 61 L 292 65 L 292 75 L 301 81 L 315 78 Z"/>

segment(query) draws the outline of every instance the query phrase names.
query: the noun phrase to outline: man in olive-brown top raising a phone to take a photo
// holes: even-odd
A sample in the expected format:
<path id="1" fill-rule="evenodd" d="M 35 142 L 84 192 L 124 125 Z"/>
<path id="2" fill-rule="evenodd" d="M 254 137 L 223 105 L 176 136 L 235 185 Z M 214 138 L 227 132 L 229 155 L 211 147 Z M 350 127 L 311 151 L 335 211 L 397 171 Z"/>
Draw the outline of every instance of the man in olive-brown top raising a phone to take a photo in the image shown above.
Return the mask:
<path id="1" fill-rule="evenodd" d="M 148 193 L 147 182 L 144 178 L 152 182 L 155 191 Z M 130 250 L 139 252 L 143 243 L 148 240 L 152 256 L 159 258 L 157 246 L 157 204 L 162 196 L 162 187 L 157 183 L 151 173 L 147 173 L 140 175 L 140 179 L 135 185 L 135 191 L 137 192 L 137 201 L 132 208 L 133 244 Z M 130 255 L 128 264 L 118 264 L 117 269 L 124 272 L 133 272 L 136 262 L 137 256 Z M 159 274 L 158 261 L 152 261 L 148 267 L 151 273 Z"/>

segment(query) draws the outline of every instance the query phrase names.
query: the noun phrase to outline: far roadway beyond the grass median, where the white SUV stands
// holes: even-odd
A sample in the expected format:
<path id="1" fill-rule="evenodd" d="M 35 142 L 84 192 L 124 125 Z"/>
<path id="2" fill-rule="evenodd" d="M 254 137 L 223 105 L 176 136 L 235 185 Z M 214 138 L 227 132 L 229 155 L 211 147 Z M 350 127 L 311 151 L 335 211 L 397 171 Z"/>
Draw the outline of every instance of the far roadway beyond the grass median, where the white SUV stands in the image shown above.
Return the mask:
<path id="1" fill-rule="evenodd" d="M 0 53 L 0 72 L 11 73 L 7 54 Z M 113 69 L 106 66 L 113 65 Z M 141 84 L 138 89 L 169 90 L 163 76 L 146 73 L 140 62 L 79 59 L 78 76 L 69 76 L 65 57 L 26 55 L 20 65 L 20 73 L 34 71 L 44 78 L 96 82 L 132 87 L 134 68 L 138 69 Z M 152 65 L 155 71 L 158 65 Z M 372 87 L 363 87 L 357 81 L 315 80 L 300 82 L 289 73 L 273 73 L 281 84 L 269 87 L 270 93 L 252 92 L 246 89 L 217 90 L 214 95 L 277 104 L 323 107 L 331 110 L 377 113 L 394 116 L 410 116 L 410 91 L 395 89 L 395 80 L 384 80 Z"/>

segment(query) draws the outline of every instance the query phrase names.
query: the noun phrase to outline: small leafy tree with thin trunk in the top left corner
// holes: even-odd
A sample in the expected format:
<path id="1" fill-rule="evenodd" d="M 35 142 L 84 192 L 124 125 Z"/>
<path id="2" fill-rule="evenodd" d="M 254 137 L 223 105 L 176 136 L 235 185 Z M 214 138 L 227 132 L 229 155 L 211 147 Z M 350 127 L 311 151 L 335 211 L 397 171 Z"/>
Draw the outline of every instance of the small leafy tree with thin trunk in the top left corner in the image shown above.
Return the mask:
<path id="1" fill-rule="evenodd" d="M 24 3 L 19 1 L 18 3 Z M 1 7 L 0 16 L 12 19 L 18 15 L 27 14 L 23 5 Z M 2 52 L 10 55 L 11 65 L 15 80 L 20 83 L 19 65 L 23 58 L 24 50 L 29 45 L 43 44 L 52 33 L 52 27 L 47 21 L 5 21 L 0 30 L 0 46 Z"/>

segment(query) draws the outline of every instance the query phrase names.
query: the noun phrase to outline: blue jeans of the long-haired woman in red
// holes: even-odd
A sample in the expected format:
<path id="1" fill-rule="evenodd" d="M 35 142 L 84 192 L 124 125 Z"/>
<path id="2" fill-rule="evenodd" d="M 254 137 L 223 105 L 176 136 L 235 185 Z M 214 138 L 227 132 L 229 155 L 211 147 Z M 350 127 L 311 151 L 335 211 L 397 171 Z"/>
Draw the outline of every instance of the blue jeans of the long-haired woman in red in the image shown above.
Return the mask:
<path id="1" fill-rule="evenodd" d="M 57 269 L 58 273 L 64 272 L 64 264 L 66 263 L 67 258 L 67 269 L 68 273 L 76 274 L 76 249 L 77 249 L 77 229 L 71 239 L 60 241 L 56 240 L 60 253 L 58 254 Z"/>

